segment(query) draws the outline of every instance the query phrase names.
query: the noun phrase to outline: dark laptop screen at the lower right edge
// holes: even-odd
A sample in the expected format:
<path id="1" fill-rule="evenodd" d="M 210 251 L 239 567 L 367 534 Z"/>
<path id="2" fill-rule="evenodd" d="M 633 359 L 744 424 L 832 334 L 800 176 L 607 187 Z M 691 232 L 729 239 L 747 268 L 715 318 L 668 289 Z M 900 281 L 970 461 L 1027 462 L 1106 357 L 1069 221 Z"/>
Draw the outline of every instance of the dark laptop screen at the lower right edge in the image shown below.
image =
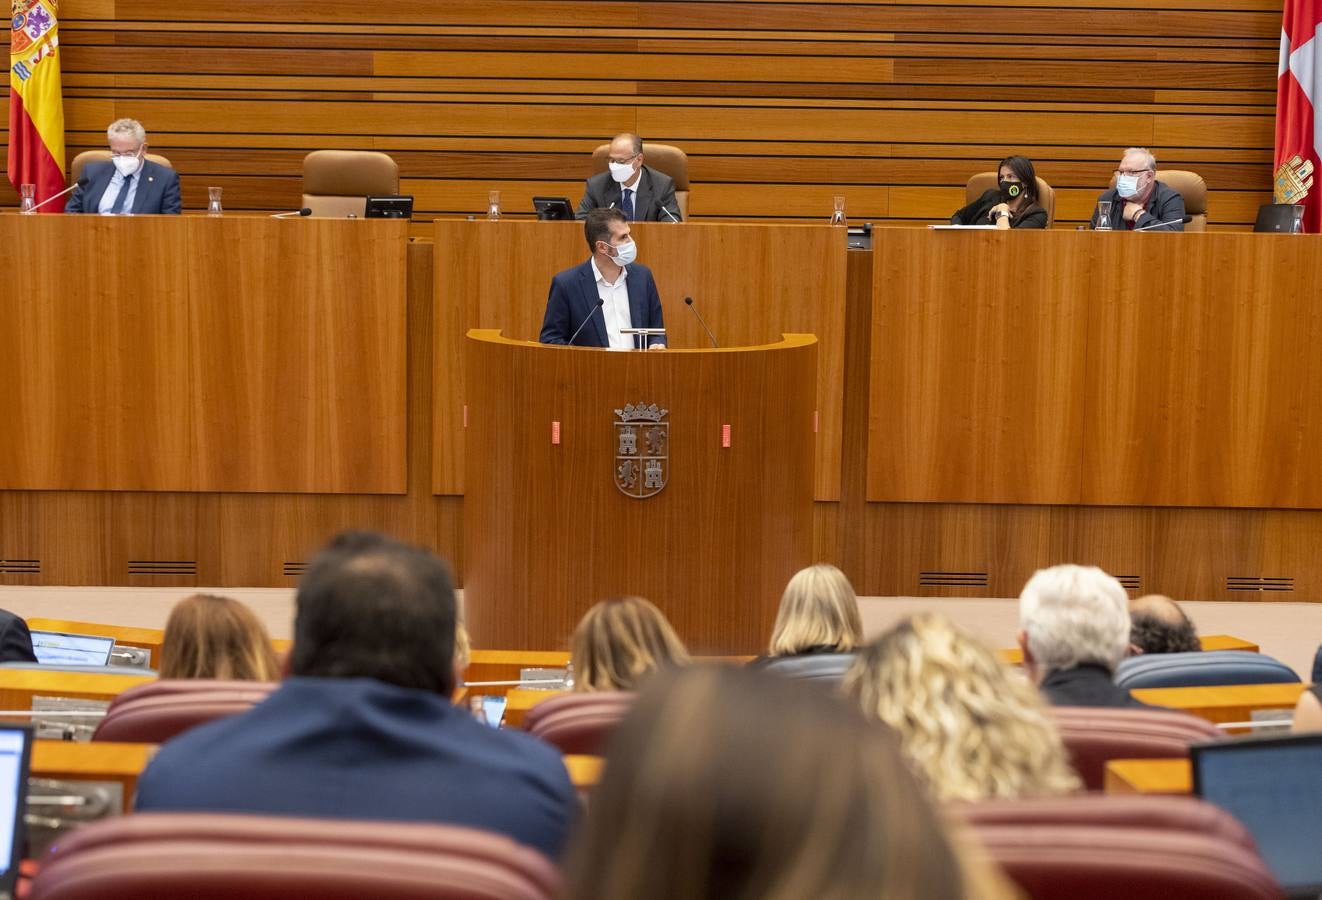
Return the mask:
<path id="1" fill-rule="evenodd" d="M 1322 895 L 1322 733 L 1190 748 L 1194 793 L 1244 823 L 1290 897 Z"/>

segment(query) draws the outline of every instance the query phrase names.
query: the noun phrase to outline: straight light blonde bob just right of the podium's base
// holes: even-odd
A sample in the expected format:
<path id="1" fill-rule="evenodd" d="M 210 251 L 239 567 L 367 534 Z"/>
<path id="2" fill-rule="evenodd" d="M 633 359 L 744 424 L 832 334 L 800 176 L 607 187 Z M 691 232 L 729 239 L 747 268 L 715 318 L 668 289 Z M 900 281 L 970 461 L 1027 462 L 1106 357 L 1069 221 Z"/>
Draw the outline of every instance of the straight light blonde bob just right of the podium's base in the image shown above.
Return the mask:
<path id="1" fill-rule="evenodd" d="M 771 632 L 771 656 L 793 656 L 814 646 L 849 653 L 862 642 L 863 619 L 845 572 L 818 563 L 789 579 Z"/>

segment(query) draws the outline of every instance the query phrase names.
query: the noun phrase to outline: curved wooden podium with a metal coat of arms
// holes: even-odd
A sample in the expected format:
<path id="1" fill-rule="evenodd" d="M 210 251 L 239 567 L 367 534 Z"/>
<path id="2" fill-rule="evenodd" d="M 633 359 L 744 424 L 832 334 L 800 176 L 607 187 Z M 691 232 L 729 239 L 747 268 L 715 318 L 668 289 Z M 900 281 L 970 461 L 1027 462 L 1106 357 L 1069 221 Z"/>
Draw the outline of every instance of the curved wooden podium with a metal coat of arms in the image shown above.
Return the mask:
<path id="1" fill-rule="evenodd" d="M 620 353 L 475 329 L 465 352 L 475 646 L 566 648 L 628 593 L 695 652 L 765 646 L 812 562 L 817 338 Z"/>

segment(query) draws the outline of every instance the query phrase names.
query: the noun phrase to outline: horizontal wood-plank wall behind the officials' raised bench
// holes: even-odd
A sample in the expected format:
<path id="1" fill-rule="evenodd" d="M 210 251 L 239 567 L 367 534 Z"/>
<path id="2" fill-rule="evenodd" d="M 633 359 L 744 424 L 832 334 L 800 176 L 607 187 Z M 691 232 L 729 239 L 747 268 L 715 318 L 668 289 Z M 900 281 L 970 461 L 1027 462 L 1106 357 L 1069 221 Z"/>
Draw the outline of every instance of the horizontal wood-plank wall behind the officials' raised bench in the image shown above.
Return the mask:
<path id="1" fill-rule="evenodd" d="M 1281 0 L 364 9 L 65 0 L 70 156 L 134 115 L 167 156 L 189 151 L 189 207 L 217 185 L 229 209 L 276 210 L 297 205 L 308 151 L 381 149 L 423 219 L 479 211 L 490 188 L 518 215 L 534 193 L 576 200 L 592 147 L 621 130 L 689 151 L 699 218 L 816 221 L 843 193 L 855 218 L 939 221 L 969 174 L 1022 152 L 1068 227 L 1132 144 L 1203 173 L 1214 227 L 1247 229 L 1270 194 Z"/>

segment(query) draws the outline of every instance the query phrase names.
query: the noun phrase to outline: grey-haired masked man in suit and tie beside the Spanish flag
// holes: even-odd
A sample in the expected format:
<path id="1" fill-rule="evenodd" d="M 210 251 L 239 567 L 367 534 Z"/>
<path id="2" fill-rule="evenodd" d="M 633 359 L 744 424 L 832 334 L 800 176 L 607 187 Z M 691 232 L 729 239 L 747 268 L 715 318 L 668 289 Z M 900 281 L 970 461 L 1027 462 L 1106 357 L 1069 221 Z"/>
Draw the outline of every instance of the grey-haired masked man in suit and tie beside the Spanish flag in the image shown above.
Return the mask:
<path id="1" fill-rule="evenodd" d="M 147 159 L 147 130 L 119 119 L 106 130 L 111 157 L 90 163 L 65 204 L 66 213 L 178 215 L 178 173 Z"/>

